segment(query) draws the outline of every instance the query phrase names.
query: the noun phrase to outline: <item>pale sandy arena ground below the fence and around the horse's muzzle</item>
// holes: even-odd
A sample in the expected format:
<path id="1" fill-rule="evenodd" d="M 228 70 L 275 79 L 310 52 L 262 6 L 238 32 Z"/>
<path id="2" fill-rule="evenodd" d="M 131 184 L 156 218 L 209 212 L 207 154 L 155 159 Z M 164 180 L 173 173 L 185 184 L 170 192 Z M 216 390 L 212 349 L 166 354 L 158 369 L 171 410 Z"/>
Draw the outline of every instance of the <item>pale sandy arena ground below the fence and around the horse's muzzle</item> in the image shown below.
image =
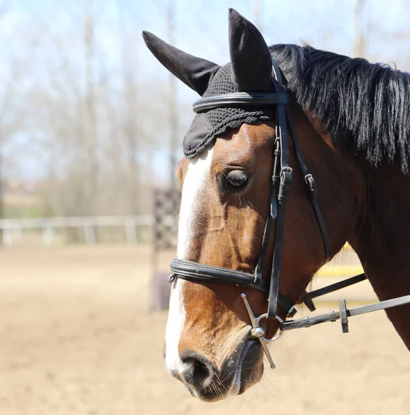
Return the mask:
<path id="1" fill-rule="evenodd" d="M 149 259 L 118 246 L 0 251 L 1 415 L 410 414 L 410 353 L 384 312 L 351 318 L 348 335 L 338 323 L 285 333 L 259 385 L 191 398 L 163 367 Z"/>

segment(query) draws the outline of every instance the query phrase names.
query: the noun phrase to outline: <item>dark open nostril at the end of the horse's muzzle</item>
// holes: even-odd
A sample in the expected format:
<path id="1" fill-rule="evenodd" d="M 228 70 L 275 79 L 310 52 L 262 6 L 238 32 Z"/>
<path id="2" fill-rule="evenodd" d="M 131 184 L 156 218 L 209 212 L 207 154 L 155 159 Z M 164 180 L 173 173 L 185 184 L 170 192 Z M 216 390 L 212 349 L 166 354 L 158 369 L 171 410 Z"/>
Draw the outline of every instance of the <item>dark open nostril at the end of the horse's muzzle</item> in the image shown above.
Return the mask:
<path id="1" fill-rule="evenodd" d="M 182 360 L 181 376 L 190 385 L 201 390 L 211 384 L 215 376 L 215 369 L 211 362 L 197 353 L 190 353 Z"/>

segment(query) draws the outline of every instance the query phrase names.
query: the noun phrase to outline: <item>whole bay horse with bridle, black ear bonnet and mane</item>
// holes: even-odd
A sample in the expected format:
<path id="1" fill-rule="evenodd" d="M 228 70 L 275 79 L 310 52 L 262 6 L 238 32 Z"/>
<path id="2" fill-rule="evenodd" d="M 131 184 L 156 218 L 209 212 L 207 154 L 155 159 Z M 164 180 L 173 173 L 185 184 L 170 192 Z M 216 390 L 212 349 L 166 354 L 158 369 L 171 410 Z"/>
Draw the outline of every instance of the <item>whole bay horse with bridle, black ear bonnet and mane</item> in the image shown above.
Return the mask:
<path id="1" fill-rule="evenodd" d="M 224 66 L 143 37 L 202 97 L 177 167 L 168 372 L 205 401 L 242 394 L 264 352 L 274 367 L 267 342 L 283 330 L 341 320 L 347 331 L 347 317 L 380 308 L 410 349 L 410 75 L 268 48 L 232 9 Z M 346 241 L 382 302 L 286 320 L 294 304 L 312 308 L 306 287 Z"/>

